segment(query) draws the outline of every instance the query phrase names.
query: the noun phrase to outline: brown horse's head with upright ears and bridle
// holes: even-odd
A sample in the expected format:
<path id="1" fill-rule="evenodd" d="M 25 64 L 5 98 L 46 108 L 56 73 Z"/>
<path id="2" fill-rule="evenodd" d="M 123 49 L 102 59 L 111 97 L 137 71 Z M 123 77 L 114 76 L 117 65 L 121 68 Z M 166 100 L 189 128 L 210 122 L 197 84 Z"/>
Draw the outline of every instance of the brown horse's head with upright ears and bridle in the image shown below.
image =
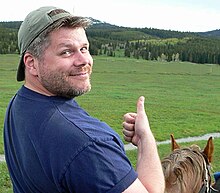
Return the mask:
<path id="1" fill-rule="evenodd" d="M 166 193 L 209 193 L 211 186 L 210 167 L 214 144 L 212 137 L 203 150 L 197 145 L 180 148 L 171 135 L 172 153 L 162 160 Z M 214 192 L 214 191 L 213 191 Z M 218 191 L 217 191 L 218 192 Z"/>

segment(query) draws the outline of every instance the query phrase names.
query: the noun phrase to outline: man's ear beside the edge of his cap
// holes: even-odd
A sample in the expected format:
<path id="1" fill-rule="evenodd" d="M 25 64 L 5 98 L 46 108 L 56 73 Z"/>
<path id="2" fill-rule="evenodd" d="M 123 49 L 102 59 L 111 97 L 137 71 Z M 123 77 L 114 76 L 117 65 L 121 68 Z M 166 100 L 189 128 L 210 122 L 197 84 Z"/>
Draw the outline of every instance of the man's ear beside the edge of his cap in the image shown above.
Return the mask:
<path id="1" fill-rule="evenodd" d="M 37 61 L 31 53 L 26 52 L 24 54 L 24 64 L 27 73 L 31 74 L 32 76 L 38 76 Z"/>

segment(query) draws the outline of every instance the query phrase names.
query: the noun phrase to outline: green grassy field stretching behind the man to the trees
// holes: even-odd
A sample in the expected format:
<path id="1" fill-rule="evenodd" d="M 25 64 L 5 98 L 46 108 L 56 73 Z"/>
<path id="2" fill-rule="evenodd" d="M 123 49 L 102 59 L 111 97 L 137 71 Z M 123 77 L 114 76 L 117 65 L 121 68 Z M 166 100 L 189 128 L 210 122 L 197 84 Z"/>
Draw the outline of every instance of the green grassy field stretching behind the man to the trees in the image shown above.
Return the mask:
<path id="1" fill-rule="evenodd" d="M 3 149 L 3 121 L 17 83 L 18 55 L 0 55 L 0 154 Z M 92 90 L 77 101 L 92 116 L 112 126 L 122 137 L 123 114 L 136 111 L 139 96 L 157 141 L 198 136 L 220 131 L 220 65 L 167 63 L 128 58 L 94 57 Z M 198 144 L 201 147 L 206 142 Z M 213 170 L 220 171 L 220 139 L 215 139 Z M 189 144 L 183 144 L 189 145 Z M 160 145 L 161 158 L 170 145 Z M 127 152 L 135 166 L 136 151 Z M 0 164 L 0 192 L 11 192 L 5 164 Z"/>

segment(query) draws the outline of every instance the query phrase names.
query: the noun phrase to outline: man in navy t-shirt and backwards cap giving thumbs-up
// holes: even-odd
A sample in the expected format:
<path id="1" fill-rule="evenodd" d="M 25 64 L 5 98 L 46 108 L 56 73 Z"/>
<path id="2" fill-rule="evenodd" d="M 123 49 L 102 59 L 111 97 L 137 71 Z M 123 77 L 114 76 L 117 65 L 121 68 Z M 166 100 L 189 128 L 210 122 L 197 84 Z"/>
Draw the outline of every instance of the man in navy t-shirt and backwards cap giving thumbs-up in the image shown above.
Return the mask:
<path id="1" fill-rule="evenodd" d="M 138 147 L 137 171 L 118 134 L 74 100 L 91 88 L 89 25 L 62 9 L 41 7 L 19 29 L 17 80 L 25 82 L 8 106 L 4 125 L 15 193 L 164 191 L 144 98 L 123 122 L 125 140 Z"/>

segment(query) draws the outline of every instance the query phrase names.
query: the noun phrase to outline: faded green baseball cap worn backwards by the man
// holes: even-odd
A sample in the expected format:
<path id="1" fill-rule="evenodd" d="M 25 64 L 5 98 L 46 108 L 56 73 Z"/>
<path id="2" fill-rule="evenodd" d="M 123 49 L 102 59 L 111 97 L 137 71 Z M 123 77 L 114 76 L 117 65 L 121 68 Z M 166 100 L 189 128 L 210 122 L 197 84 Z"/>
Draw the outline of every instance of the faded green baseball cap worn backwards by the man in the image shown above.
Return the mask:
<path id="1" fill-rule="evenodd" d="M 18 47 L 20 49 L 21 58 L 18 65 L 17 81 L 23 81 L 25 78 L 23 57 L 30 44 L 55 21 L 64 17 L 73 16 L 67 11 L 62 13 L 58 12 L 52 16 L 49 15 L 51 11 L 57 9 L 60 8 L 52 6 L 40 7 L 30 12 L 22 22 L 18 31 Z"/>

